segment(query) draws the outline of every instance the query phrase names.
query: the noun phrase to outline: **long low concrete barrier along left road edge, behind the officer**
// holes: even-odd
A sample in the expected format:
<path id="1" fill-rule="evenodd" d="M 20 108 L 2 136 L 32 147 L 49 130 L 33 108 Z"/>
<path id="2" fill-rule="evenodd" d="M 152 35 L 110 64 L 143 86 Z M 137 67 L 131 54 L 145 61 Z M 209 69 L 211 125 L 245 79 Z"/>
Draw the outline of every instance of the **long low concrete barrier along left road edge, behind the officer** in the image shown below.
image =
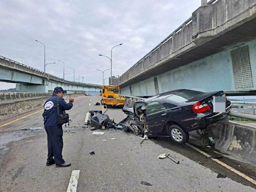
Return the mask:
<path id="1" fill-rule="evenodd" d="M 64 99 L 67 99 L 68 96 L 80 96 L 83 94 L 70 94 L 65 95 Z M 36 108 L 43 107 L 45 100 L 49 98 L 49 96 L 31 98 L 26 100 L 12 100 L 8 103 L 0 103 L 0 121 L 6 120 L 8 118 L 20 115 L 25 112 L 29 112 Z"/>

